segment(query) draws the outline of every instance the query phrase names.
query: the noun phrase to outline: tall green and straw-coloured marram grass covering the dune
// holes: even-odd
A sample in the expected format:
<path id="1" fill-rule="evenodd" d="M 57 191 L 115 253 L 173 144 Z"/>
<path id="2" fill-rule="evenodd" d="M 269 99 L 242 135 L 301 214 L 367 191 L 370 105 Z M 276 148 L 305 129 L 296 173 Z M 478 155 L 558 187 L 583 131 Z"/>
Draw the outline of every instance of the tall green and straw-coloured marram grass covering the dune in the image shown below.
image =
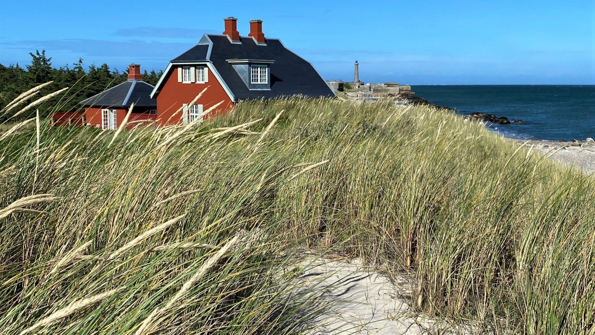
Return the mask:
<path id="1" fill-rule="evenodd" d="M 415 308 L 477 331 L 595 333 L 593 179 L 450 112 L 288 98 L 39 141 L 0 142 L 5 334 L 307 333 L 278 275 L 304 247 L 410 273 Z"/>

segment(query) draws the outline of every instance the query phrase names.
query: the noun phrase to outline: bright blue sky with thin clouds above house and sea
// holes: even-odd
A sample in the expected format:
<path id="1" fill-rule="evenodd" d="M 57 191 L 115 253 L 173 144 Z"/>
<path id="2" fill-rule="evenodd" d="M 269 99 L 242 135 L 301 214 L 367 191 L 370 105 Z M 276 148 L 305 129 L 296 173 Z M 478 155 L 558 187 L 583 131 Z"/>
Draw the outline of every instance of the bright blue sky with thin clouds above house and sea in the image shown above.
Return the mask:
<path id="1" fill-rule="evenodd" d="M 595 84 L 595 1 L 8 1 L 0 63 L 164 69 L 223 18 L 263 20 L 325 79 L 402 84 Z"/>

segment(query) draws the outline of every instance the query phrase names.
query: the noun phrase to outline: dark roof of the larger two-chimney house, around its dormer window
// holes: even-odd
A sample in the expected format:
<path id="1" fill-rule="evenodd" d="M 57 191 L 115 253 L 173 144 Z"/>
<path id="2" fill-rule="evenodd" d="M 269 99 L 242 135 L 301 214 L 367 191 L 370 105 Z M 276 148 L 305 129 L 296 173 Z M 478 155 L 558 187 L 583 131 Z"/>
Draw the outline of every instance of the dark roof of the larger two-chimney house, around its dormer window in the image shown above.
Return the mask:
<path id="1" fill-rule="evenodd" d="M 205 35 L 212 42 L 200 44 L 172 60 L 176 62 L 211 61 L 236 99 L 277 98 L 304 95 L 318 98 L 334 97 L 333 90 L 308 61 L 289 51 L 278 39 L 266 39 L 267 45 L 257 45 L 252 37 L 240 37 L 240 43 L 231 43 L 225 35 Z M 206 39 L 203 37 L 201 43 Z M 208 57 L 208 58 L 207 58 Z M 226 60 L 273 60 L 271 90 L 250 90 L 236 70 Z"/>

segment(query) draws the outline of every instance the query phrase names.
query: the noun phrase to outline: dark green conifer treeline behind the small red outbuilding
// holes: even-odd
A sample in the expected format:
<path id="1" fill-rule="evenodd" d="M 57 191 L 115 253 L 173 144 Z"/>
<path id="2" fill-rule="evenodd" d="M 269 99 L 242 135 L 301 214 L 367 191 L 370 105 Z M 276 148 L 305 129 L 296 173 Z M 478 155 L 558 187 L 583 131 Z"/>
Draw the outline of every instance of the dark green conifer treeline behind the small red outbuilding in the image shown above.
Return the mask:
<path id="1" fill-rule="evenodd" d="M 60 102 L 60 111 L 75 111 L 80 108 L 78 102 L 83 101 L 90 96 L 96 95 L 109 87 L 123 83 L 127 80 L 128 69 L 122 73 L 114 68 L 111 70 L 108 64 L 101 66 L 89 65 L 87 71 L 83 67 L 83 59 L 73 64 L 70 68 L 52 67 L 52 58 L 47 57 L 45 50 L 29 53 L 32 57 L 30 65 L 26 68 L 18 64 L 10 64 L 8 67 L 0 64 L 0 109 L 16 98 L 20 93 L 42 83 L 53 80 L 54 82 L 42 89 L 42 94 L 54 92 L 63 87 L 71 87 L 66 95 L 58 96 L 46 102 L 45 105 L 54 105 Z M 143 73 L 143 80 L 149 84 L 155 85 L 163 71 L 158 73 L 152 70 Z M 36 96 L 39 98 L 40 96 Z M 45 111 L 47 108 L 39 108 Z M 10 115 L 0 115 L 0 122 L 4 121 Z M 23 115 L 27 117 L 29 115 Z"/>

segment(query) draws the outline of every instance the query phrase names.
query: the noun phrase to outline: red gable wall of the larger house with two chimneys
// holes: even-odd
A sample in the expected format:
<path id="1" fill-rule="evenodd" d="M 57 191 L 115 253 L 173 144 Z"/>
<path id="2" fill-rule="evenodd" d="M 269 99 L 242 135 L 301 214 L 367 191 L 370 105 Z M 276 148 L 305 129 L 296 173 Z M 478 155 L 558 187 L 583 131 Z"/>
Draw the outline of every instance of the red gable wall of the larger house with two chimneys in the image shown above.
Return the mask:
<path id="1" fill-rule="evenodd" d="M 166 76 L 165 84 L 163 84 L 157 95 L 158 124 L 161 126 L 182 123 L 182 111 L 176 115 L 173 114 L 182 107 L 182 104 L 190 104 L 205 87 L 208 87 L 208 89 L 195 102 L 195 104 L 203 105 L 203 111 L 223 101 L 223 104 L 219 105 L 209 115 L 205 115 L 205 118 L 224 114 L 233 108 L 233 102 L 210 69 L 208 73 L 209 82 L 204 84 L 179 83 L 177 67 L 172 67 L 170 73 L 164 74 L 164 76 Z"/>

